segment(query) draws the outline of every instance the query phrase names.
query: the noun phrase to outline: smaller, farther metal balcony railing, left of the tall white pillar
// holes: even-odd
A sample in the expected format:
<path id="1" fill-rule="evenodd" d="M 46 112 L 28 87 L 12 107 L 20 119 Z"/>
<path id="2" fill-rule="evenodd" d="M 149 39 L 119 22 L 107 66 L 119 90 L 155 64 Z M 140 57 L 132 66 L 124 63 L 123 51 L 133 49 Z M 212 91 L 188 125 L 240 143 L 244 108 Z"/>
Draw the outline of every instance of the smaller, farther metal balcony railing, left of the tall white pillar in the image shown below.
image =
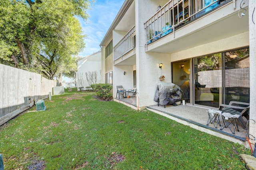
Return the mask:
<path id="1" fill-rule="evenodd" d="M 114 46 L 114 61 L 135 49 L 135 25 L 126 35 Z"/>

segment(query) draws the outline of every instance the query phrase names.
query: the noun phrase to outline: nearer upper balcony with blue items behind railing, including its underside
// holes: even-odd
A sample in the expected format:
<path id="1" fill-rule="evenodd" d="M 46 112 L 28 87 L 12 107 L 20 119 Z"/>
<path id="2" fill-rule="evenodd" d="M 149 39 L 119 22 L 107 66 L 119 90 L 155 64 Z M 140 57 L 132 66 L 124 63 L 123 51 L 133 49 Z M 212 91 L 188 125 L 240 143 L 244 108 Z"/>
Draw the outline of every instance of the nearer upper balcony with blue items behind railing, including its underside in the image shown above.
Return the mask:
<path id="1" fill-rule="evenodd" d="M 241 15 L 248 3 L 243 2 L 168 1 L 144 23 L 146 51 L 173 53 L 248 31 L 248 14 Z"/>

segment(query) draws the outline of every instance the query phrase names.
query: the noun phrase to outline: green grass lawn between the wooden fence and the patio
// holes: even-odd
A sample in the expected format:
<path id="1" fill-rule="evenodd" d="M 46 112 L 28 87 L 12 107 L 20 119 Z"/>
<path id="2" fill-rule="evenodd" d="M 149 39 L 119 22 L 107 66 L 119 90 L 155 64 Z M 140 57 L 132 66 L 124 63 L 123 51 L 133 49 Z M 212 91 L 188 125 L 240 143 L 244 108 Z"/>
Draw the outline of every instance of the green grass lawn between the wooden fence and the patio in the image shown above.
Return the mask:
<path id="1" fill-rule="evenodd" d="M 4 170 L 246 169 L 242 145 L 94 95 L 65 91 L 2 125 Z"/>

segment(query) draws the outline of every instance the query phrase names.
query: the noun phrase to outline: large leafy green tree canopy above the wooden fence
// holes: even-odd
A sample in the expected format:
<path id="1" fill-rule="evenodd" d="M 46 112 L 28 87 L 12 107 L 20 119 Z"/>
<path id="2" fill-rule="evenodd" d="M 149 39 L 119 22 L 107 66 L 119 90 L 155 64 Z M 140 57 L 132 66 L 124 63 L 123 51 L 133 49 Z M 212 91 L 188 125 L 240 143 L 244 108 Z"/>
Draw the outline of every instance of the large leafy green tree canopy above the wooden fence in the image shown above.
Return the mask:
<path id="1" fill-rule="evenodd" d="M 0 63 L 53 79 L 67 73 L 85 44 L 76 17 L 88 18 L 89 0 L 0 1 Z"/>

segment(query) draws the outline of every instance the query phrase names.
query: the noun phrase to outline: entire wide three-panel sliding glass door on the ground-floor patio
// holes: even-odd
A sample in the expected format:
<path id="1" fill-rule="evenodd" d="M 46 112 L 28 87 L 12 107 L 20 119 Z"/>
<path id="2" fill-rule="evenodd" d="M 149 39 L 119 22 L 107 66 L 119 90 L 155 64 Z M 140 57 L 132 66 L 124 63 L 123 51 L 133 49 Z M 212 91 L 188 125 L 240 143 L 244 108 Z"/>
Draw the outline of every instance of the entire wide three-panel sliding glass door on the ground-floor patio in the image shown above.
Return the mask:
<path id="1" fill-rule="evenodd" d="M 250 103 L 249 48 L 172 63 L 172 82 L 186 103 L 216 108 L 230 101 Z"/>

